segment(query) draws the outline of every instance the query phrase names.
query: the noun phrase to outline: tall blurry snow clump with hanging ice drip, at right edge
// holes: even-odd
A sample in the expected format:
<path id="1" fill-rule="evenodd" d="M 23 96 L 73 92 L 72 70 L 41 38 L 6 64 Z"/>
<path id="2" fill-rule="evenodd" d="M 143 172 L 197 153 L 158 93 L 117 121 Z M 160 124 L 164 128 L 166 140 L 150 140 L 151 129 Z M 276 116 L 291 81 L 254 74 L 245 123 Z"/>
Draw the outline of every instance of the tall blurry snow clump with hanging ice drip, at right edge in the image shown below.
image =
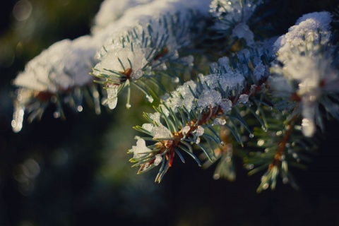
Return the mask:
<path id="1" fill-rule="evenodd" d="M 306 14 L 275 42 L 277 59 L 283 66 L 274 65 L 272 68 L 276 73 L 269 79 L 275 90 L 273 95 L 298 95 L 302 102 L 302 132 L 308 137 L 314 135 L 316 124 L 321 125 L 316 116 L 319 103 L 327 109 L 331 105 L 323 102 L 321 97 L 338 92 L 334 88 L 339 85 L 338 71 L 331 65 L 328 57 L 331 53 L 324 52 L 326 48 L 323 48 L 328 45 L 331 35 L 330 22 L 328 12 Z"/>

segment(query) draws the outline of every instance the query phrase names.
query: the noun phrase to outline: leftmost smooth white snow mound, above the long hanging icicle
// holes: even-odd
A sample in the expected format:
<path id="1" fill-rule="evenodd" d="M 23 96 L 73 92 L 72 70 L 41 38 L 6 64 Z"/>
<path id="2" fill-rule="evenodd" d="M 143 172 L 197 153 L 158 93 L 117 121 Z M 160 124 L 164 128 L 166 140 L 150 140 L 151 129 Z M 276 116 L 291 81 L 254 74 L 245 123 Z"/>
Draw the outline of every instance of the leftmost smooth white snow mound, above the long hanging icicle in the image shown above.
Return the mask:
<path id="1" fill-rule="evenodd" d="M 93 81 L 95 44 L 92 37 L 62 40 L 52 44 L 28 62 L 13 84 L 38 92 L 59 93 Z"/>

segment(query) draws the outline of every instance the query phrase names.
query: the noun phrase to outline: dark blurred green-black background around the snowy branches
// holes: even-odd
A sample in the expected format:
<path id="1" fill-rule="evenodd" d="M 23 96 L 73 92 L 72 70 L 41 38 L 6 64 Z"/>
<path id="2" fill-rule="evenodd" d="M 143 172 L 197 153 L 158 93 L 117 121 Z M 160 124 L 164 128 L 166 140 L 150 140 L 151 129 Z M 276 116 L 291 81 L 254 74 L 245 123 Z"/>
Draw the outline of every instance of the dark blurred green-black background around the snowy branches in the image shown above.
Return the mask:
<path id="1" fill-rule="evenodd" d="M 321 9 L 333 9 L 326 2 Z M 339 225 L 338 124 L 327 125 L 307 170 L 292 169 L 299 191 L 280 183 L 262 194 L 261 174 L 248 177 L 242 162 L 235 182 L 214 180 L 213 167 L 189 157 L 174 160 L 161 184 L 153 182 L 157 170 L 136 175 L 126 152 L 149 106 L 126 110 L 122 101 L 99 116 L 65 109 L 66 121 L 51 106 L 13 133 L 11 80 L 42 49 L 89 34 L 100 4 L 0 2 L 0 225 Z"/>

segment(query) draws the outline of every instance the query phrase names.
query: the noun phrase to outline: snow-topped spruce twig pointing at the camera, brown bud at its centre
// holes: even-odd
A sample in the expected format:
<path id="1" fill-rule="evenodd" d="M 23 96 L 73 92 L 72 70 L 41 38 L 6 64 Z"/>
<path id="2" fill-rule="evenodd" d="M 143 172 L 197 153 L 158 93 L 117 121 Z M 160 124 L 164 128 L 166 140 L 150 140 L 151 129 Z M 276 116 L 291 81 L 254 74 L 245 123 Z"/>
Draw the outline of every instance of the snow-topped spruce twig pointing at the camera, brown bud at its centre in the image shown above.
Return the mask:
<path id="1" fill-rule="evenodd" d="M 156 81 L 153 85 L 161 83 L 164 73 L 171 79 L 178 78 L 178 71 L 184 71 L 193 62 L 192 57 L 179 55 L 179 52 L 199 35 L 195 33 L 197 23 L 199 15 L 193 11 L 167 14 L 112 37 L 98 52 L 100 62 L 93 69 L 94 76 L 105 80 L 102 84 L 107 89 L 109 108 L 116 107 L 117 96 L 124 88 L 129 89 L 129 83 L 136 85 L 153 102 L 150 93 L 156 92 L 148 85 L 152 80 Z M 129 108 L 129 101 L 126 106 Z"/>

